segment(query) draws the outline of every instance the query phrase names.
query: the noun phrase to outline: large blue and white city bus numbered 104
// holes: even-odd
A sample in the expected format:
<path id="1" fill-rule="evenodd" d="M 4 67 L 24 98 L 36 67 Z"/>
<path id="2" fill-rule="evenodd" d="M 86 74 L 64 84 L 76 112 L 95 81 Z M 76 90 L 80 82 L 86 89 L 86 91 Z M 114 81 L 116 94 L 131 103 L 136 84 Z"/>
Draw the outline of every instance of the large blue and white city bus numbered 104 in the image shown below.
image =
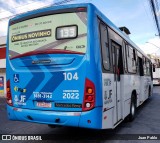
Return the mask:
<path id="1" fill-rule="evenodd" d="M 10 120 L 114 129 L 134 119 L 152 87 L 150 59 L 93 4 L 51 6 L 9 21 Z"/>

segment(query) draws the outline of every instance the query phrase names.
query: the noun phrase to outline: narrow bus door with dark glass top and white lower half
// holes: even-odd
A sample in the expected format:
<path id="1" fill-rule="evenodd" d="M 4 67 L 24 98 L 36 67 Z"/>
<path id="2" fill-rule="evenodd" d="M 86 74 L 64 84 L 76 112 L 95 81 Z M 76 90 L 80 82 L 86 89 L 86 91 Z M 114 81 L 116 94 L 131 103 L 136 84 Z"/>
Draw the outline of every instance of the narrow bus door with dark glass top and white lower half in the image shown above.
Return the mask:
<path id="1" fill-rule="evenodd" d="M 113 53 L 113 72 L 114 72 L 114 93 L 115 93 L 115 110 L 116 122 L 122 119 L 122 98 L 120 90 L 120 74 L 122 66 L 122 50 L 121 46 L 112 42 Z"/>

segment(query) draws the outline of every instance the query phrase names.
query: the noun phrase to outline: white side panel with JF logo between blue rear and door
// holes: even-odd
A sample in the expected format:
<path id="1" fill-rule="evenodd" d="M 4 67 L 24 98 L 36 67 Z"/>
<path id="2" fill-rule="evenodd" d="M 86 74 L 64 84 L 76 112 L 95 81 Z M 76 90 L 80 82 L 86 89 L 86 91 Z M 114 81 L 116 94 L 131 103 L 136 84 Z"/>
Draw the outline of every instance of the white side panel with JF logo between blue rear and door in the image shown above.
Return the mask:
<path id="1" fill-rule="evenodd" d="M 102 74 L 102 91 L 103 91 L 103 117 L 102 128 L 108 129 L 114 126 L 114 105 L 115 91 L 113 89 L 114 75 L 109 73 Z"/>

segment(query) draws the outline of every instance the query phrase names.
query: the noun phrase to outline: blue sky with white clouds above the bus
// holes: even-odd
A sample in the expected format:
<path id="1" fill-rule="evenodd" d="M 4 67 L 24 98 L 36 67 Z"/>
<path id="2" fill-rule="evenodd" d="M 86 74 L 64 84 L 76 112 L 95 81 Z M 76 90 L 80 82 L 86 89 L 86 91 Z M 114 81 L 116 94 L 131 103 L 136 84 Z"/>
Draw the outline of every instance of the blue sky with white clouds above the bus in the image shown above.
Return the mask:
<path id="1" fill-rule="evenodd" d="M 0 0 L 0 37 L 7 35 L 8 17 L 63 0 Z M 69 0 L 68 0 L 69 1 Z M 130 39 L 146 54 L 160 55 L 160 37 L 153 22 L 149 0 L 70 0 L 91 2 L 117 27 L 126 26 Z M 160 7 L 160 0 L 157 0 Z M 160 11 L 157 13 L 160 19 Z"/>

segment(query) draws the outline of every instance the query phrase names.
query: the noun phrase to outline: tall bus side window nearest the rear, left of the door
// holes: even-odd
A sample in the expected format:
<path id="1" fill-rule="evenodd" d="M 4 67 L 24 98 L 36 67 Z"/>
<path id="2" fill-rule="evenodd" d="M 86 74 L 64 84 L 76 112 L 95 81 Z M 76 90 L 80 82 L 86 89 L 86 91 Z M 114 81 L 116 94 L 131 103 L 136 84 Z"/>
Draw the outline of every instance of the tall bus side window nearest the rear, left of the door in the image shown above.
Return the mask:
<path id="1" fill-rule="evenodd" d="M 102 48 L 102 58 L 103 58 L 103 66 L 104 69 L 109 71 L 110 70 L 110 51 L 109 51 L 109 44 L 108 44 L 108 30 L 107 26 L 100 22 L 100 42 Z"/>

